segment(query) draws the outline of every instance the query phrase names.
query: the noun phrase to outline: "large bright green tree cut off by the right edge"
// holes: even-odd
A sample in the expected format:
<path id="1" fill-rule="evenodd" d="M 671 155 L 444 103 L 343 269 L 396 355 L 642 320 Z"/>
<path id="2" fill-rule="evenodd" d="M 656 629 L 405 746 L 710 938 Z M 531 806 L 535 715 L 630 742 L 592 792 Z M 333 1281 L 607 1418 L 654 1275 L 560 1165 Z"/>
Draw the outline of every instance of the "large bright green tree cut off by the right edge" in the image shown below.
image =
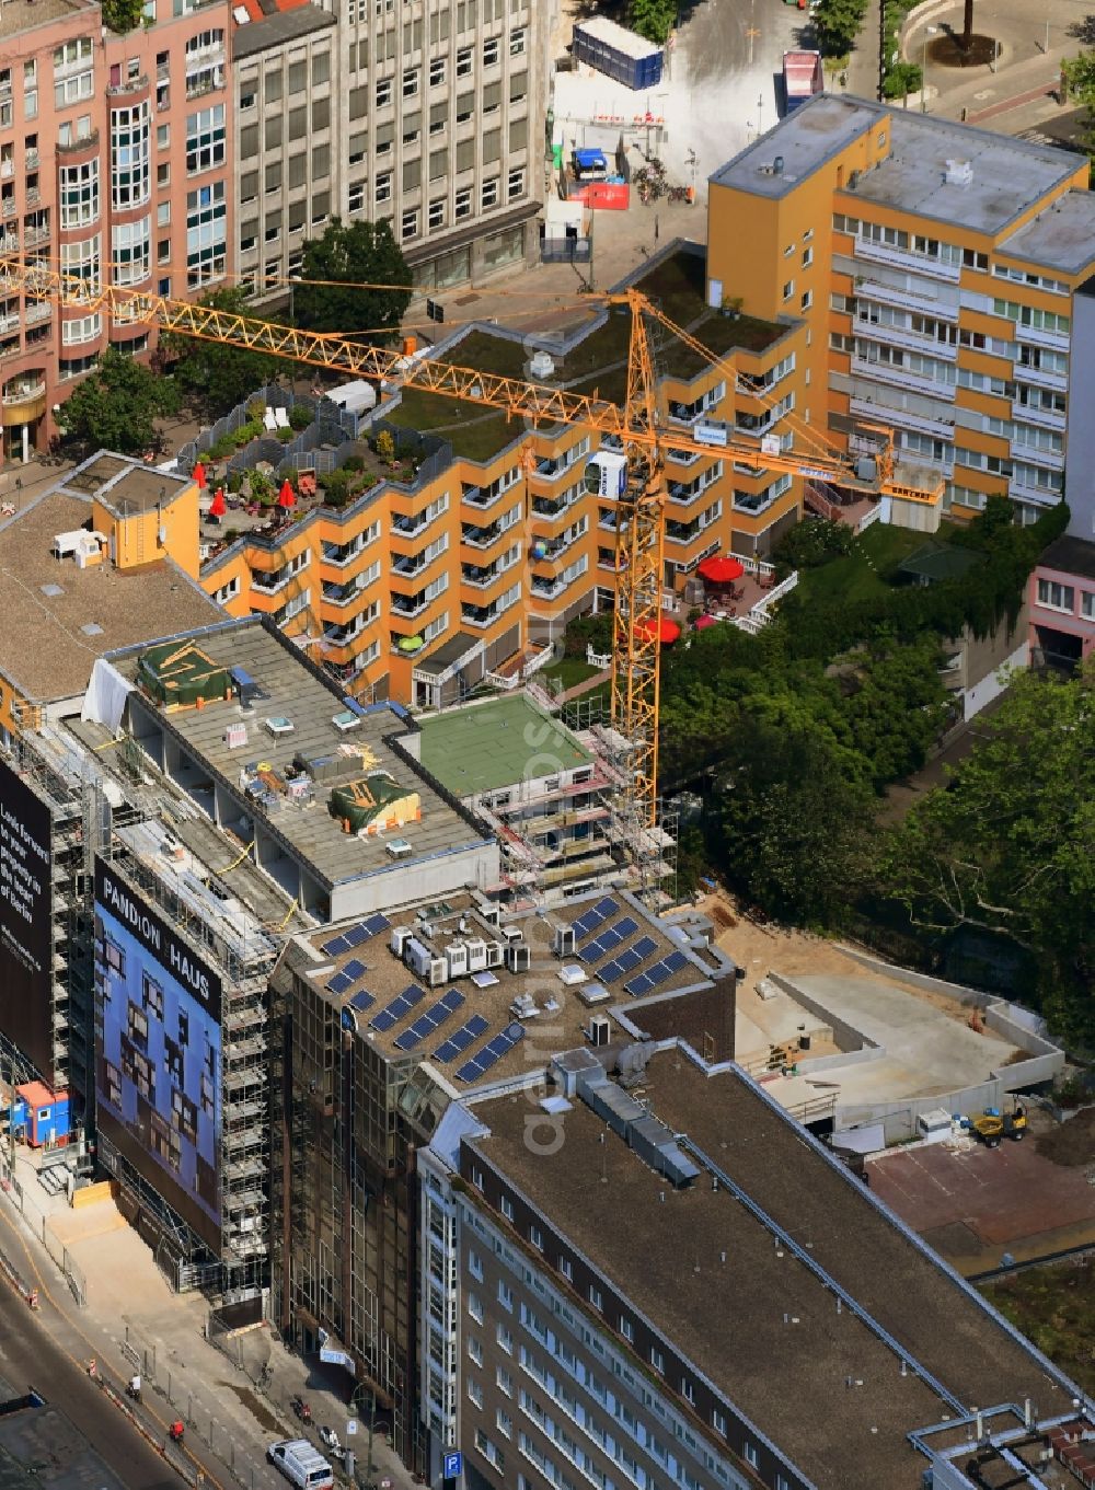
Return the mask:
<path id="1" fill-rule="evenodd" d="M 979 927 L 1035 954 L 1043 1010 L 1095 1034 L 1095 662 L 1021 673 L 988 736 L 888 840 L 880 884 L 933 931 Z"/>

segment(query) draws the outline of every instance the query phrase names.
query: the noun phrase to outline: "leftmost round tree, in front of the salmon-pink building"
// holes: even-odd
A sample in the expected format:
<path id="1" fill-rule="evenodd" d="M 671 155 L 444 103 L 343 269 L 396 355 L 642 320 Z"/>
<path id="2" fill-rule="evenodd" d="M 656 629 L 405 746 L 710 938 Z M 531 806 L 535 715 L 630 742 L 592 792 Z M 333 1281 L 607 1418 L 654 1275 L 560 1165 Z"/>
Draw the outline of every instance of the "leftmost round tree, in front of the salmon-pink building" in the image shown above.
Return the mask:
<path id="1" fill-rule="evenodd" d="M 179 395 L 170 378 L 109 347 L 94 372 L 61 407 L 64 440 L 92 450 L 140 454 L 155 448 L 155 420 L 173 414 Z"/>

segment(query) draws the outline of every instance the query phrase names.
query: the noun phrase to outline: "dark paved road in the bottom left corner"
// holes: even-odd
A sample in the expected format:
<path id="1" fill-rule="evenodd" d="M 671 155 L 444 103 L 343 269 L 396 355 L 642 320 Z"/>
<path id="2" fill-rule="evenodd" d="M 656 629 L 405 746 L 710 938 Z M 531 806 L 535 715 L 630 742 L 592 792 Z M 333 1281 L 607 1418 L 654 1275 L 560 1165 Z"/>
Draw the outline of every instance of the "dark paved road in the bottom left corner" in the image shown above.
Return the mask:
<path id="1" fill-rule="evenodd" d="M 16 1392 L 33 1386 L 60 1408 L 130 1490 L 174 1490 L 182 1484 L 7 1284 L 0 1286 L 0 1375 Z"/>

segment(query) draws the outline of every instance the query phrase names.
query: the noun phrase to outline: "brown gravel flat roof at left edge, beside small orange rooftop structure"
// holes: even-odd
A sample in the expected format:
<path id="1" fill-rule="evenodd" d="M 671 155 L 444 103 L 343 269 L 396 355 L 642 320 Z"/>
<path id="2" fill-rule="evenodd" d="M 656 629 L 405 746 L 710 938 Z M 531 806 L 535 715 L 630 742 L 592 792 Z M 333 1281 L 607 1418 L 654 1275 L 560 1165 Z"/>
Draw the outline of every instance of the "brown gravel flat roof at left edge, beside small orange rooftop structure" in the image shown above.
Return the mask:
<path id="1" fill-rule="evenodd" d="M 171 560 L 125 572 L 54 557 L 57 535 L 89 527 L 91 516 L 88 496 L 54 489 L 0 523 L 0 672 L 36 702 L 83 693 L 109 651 L 223 617 Z"/>

